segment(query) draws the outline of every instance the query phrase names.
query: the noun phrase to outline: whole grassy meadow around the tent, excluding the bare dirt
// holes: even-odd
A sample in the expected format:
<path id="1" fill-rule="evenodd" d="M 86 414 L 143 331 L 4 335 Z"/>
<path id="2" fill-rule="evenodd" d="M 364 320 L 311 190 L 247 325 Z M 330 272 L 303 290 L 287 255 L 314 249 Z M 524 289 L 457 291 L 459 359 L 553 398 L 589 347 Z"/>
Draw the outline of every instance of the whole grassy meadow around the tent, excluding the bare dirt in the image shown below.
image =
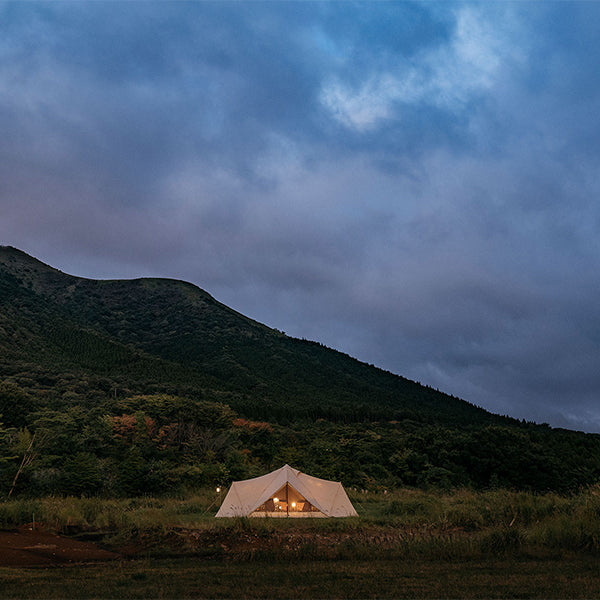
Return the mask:
<path id="1" fill-rule="evenodd" d="M 600 597 L 600 488 L 349 490 L 351 519 L 214 519 L 220 497 L 0 503 L 121 559 L 0 568 L 3 598 Z M 38 525 L 39 526 L 39 525 Z"/>

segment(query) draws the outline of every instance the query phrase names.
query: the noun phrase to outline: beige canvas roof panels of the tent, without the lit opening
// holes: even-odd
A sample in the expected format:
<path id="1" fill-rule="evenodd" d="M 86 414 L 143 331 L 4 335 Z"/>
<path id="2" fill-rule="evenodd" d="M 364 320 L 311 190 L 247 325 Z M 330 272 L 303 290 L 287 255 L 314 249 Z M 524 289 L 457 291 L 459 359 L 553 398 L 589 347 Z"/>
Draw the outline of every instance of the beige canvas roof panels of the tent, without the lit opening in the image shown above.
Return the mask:
<path id="1" fill-rule="evenodd" d="M 286 483 L 328 517 L 357 516 L 341 483 L 306 475 L 289 465 L 260 477 L 233 482 L 216 516 L 248 516 Z"/>

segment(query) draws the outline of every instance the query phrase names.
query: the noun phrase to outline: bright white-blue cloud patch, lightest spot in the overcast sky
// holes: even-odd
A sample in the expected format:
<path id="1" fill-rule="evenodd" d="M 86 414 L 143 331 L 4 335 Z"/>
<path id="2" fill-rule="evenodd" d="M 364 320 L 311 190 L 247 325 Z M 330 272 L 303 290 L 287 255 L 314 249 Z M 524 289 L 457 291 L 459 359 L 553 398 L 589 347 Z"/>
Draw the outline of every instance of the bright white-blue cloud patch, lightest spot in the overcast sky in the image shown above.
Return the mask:
<path id="1" fill-rule="evenodd" d="M 521 60 L 514 32 L 498 28 L 472 5 L 457 10 L 450 39 L 398 56 L 390 69 L 368 73 L 358 86 L 338 79 L 325 83 L 321 102 L 344 126 L 358 133 L 402 119 L 402 105 L 429 104 L 450 112 L 462 111 L 497 82 L 502 68 Z M 436 40 L 437 41 L 437 40 Z"/>

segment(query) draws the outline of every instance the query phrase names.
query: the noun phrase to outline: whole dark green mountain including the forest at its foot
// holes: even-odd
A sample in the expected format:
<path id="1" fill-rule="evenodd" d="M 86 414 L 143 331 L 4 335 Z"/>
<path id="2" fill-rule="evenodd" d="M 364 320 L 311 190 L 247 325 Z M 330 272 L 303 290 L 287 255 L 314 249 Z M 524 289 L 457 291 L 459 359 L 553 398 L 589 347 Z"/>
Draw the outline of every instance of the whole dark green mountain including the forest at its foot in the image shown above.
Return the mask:
<path id="1" fill-rule="evenodd" d="M 599 481 L 600 436 L 492 415 L 189 283 L 0 247 L 0 495 L 179 493 L 285 463 L 372 489 L 568 492 Z"/>

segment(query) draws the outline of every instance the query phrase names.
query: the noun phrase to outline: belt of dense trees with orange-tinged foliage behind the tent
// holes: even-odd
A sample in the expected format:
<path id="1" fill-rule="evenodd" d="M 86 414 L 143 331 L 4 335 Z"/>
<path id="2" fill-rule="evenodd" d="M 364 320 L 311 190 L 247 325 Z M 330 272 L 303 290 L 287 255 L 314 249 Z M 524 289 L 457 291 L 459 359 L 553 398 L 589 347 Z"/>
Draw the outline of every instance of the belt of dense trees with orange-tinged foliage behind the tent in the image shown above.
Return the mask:
<path id="1" fill-rule="evenodd" d="M 18 386 L 4 385 L 11 398 Z M 566 492 L 600 477 L 599 436 L 533 424 L 451 428 L 404 421 L 277 424 L 223 403 L 168 394 L 47 402 L 0 428 L 8 493 L 35 434 L 19 494 L 138 495 L 227 484 L 292 464 L 361 488 L 503 486 Z M 35 405 L 34 400 L 30 400 Z M 72 403 L 74 402 L 74 403 Z M 21 424 L 21 423 L 19 423 Z"/>

